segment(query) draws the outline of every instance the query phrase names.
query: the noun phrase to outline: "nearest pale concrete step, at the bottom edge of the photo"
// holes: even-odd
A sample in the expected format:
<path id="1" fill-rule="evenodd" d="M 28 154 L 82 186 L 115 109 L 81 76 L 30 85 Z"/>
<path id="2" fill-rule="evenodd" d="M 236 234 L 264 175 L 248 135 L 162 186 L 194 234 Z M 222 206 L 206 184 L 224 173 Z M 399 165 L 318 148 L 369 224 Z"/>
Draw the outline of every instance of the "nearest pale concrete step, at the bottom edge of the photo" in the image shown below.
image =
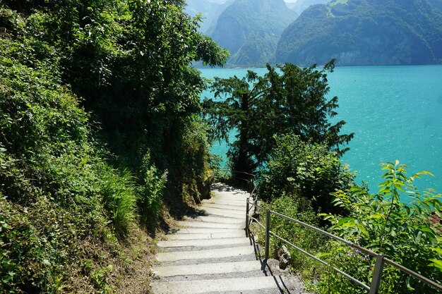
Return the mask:
<path id="1" fill-rule="evenodd" d="M 155 294 L 201 294 L 220 293 L 220 291 L 235 291 L 241 293 L 243 290 L 263 289 L 285 289 L 279 276 L 260 276 L 249 278 L 220 278 L 204 281 L 173 281 L 152 283 L 152 290 Z M 261 292 L 262 293 L 262 292 Z M 280 292 L 284 293 L 284 292 Z M 287 292 L 286 292 L 287 293 Z"/>

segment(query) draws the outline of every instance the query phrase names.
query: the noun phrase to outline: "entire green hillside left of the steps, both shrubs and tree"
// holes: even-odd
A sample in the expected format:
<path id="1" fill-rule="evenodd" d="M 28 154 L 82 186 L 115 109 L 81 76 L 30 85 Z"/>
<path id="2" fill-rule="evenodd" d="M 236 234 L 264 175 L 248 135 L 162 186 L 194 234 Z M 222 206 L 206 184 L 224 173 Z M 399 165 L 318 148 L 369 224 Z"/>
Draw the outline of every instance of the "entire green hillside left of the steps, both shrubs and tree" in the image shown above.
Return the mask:
<path id="1" fill-rule="evenodd" d="M 208 195 L 189 65 L 227 53 L 182 5 L 1 2 L 0 293 L 146 291 L 144 228 Z"/>

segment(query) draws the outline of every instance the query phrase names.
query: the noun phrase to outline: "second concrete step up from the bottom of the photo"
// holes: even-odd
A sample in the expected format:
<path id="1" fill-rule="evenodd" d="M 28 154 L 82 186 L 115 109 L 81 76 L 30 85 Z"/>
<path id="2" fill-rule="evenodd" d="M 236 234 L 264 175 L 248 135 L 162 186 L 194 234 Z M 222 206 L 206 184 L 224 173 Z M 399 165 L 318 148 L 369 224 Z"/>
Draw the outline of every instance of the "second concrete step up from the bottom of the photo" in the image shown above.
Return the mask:
<path id="1" fill-rule="evenodd" d="M 188 264 L 172 267 L 155 267 L 157 276 L 190 276 L 203 274 L 226 274 L 253 271 L 261 268 L 261 262 L 221 262 L 216 264 Z"/>

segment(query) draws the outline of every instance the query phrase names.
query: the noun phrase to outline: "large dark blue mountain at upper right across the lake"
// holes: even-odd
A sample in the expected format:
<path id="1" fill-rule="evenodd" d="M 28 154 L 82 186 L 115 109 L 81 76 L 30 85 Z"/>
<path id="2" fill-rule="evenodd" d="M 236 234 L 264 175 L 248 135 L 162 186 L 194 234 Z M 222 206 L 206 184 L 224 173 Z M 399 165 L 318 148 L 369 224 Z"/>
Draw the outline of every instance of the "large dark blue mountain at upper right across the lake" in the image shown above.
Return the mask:
<path id="1" fill-rule="evenodd" d="M 442 0 L 335 0 L 282 33 L 275 60 L 299 65 L 442 62 Z"/>

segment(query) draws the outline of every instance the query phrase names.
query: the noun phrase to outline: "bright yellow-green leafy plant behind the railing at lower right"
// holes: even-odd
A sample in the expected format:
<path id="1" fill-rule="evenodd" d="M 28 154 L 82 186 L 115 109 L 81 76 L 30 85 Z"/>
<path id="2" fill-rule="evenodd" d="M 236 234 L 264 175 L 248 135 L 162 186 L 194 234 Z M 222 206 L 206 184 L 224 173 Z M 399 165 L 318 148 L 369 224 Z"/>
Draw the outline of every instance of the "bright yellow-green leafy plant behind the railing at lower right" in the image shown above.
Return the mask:
<path id="1" fill-rule="evenodd" d="M 333 193 L 335 204 L 347 209 L 350 216 L 324 215 L 332 224 L 330 229 L 342 238 L 386 255 L 389 259 L 441 283 L 440 231 L 437 231 L 430 222 L 432 214 L 441 216 L 442 202 L 439 200 L 441 194 L 436 195 L 434 190 L 424 193 L 417 190 L 414 180 L 430 174 L 427 171 L 409 177 L 407 166 L 400 164 L 399 161 L 395 161 L 394 164 L 388 162 L 381 166 L 386 173 L 376 195 L 357 187 Z M 403 203 L 401 197 L 409 197 L 410 202 Z M 368 259 L 357 252 L 356 262 L 349 263 L 342 253 L 349 250 L 343 249 L 342 245 L 335 244 L 334 247 L 335 265 L 346 267 L 347 273 L 369 284 L 373 260 L 367 264 Z M 410 276 L 404 276 L 393 267 L 386 267 L 383 281 L 382 293 L 431 293 L 432 291 L 429 286 Z M 348 288 L 345 290 L 348 286 L 340 279 L 335 279 L 330 287 L 334 289 L 333 293 L 359 293 Z"/>

